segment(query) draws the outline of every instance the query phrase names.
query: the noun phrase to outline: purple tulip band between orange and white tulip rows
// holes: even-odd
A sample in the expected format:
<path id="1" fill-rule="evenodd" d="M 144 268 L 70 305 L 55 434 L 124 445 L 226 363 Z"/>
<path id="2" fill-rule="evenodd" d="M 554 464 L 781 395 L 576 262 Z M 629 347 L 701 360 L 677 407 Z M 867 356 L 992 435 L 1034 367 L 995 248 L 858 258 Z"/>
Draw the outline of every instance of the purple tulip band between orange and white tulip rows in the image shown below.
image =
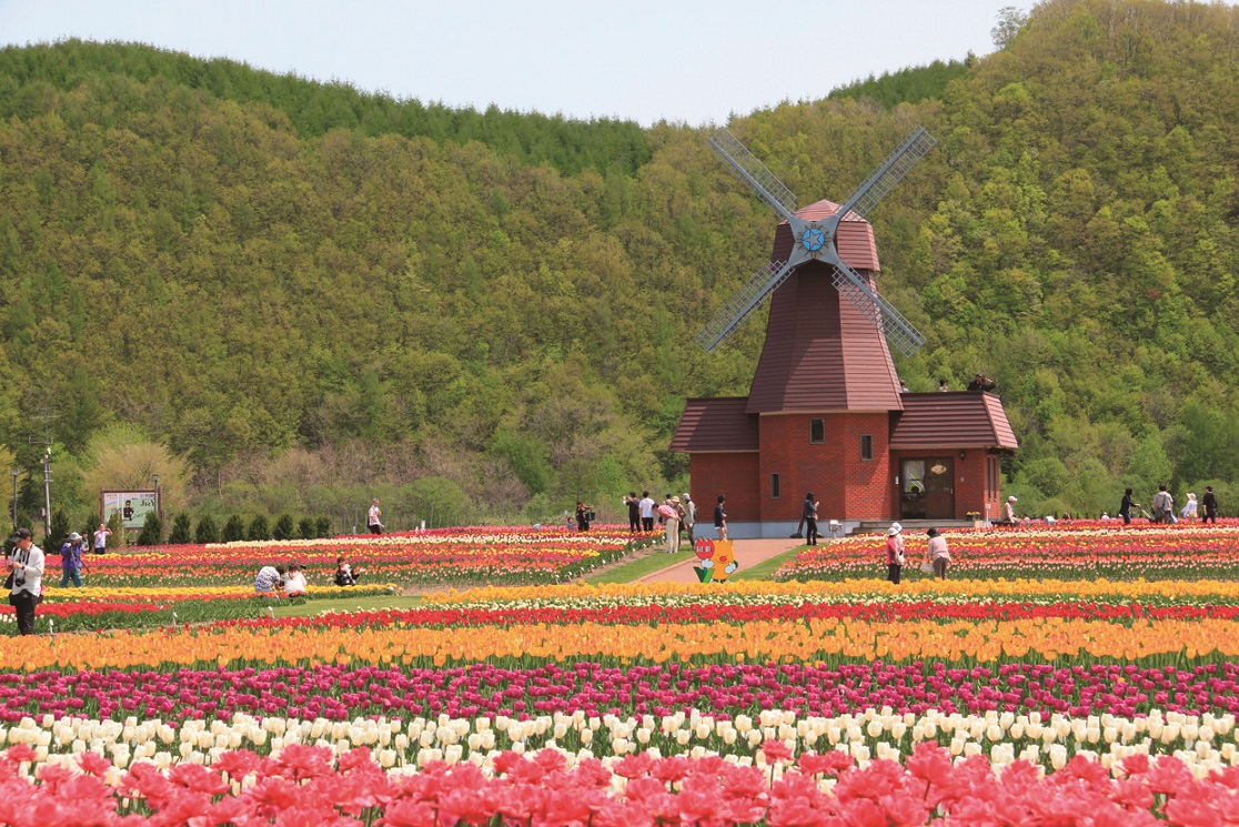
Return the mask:
<path id="1" fill-rule="evenodd" d="M 745 664 L 605 666 L 593 662 L 506 669 L 318 666 L 0 675 L 0 721 L 84 716 L 165 721 L 256 717 L 348 719 L 357 716 L 529 717 L 672 714 L 695 708 L 731 718 L 761 709 L 833 716 L 865 707 L 896 712 L 1109 712 L 1151 708 L 1239 713 L 1239 662 L 1191 669 L 1094 664 L 1009 664 L 953 669 L 940 662 L 887 665 Z"/>

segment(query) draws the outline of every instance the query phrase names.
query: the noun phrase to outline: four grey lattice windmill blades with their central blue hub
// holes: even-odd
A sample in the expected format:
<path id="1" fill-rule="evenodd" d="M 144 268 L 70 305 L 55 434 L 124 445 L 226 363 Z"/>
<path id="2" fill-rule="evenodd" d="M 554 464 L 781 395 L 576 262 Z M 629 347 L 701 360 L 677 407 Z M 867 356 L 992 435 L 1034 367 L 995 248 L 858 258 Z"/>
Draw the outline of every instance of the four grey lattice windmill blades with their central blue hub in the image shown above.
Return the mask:
<path id="1" fill-rule="evenodd" d="M 809 220 L 795 214 L 795 196 L 750 152 L 743 144 L 721 129 L 710 137 L 710 147 L 726 161 L 762 201 L 782 215 L 792 230 L 794 243 L 786 261 L 772 260 L 757 270 L 727 302 L 719 308 L 695 339 L 706 353 L 714 352 L 807 261 L 820 261 L 834 269 L 834 286 L 861 316 L 886 336 L 904 355 L 924 344 L 924 337 L 893 305 L 870 288 L 870 282 L 839 258 L 835 244 L 839 222 L 849 213 L 865 218 L 928 155 L 938 141 L 917 126 L 892 151 L 872 175 L 844 201 L 839 209 L 825 218 Z"/>

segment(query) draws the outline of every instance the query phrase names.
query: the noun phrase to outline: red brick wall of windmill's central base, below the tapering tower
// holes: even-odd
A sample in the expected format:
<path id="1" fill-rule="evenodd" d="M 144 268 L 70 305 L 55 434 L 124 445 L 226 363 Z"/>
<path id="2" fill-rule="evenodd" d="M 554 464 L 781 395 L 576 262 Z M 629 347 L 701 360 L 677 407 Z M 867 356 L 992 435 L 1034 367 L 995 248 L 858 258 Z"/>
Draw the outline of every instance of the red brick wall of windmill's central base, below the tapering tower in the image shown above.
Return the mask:
<path id="1" fill-rule="evenodd" d="M 812 443 L 810 422 L 823 420 L 825 439 Z M 792 413 L 764 415 L 760 423 L 758 495 L 761 519 L 799 520 L 804 495 L 821 503 L 825 520 L 891 517 L 890 415 Z M 872 459 L 862 461 L 861 436 L 872 437 Z M 781 495 L 772 496 L 771 475 L 779 475 Z M 730 514 L 730 511 L 729 511 Z"/>

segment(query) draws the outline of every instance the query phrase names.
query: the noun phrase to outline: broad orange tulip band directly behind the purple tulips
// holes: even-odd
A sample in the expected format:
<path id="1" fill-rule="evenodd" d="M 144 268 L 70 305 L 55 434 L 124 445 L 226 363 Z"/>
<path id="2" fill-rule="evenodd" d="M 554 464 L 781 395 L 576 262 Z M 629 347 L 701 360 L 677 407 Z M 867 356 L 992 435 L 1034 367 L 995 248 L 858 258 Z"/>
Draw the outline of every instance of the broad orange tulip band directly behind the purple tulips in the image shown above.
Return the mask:
<path id="1" fill-rule="evenodd" d="M 579 623 L 432 628 L 305 629 L 227 626 L 31 638 L 0 651 L 0 670 L 123 669 L 214 662 L 413 664 L 488 659 L 621 661 L 912 660 L 1180 655 L 1239 656 L 1232 620 L 1108 621 L 1032 618 L 1010 621 L 866 621 L 854 619 L 680 623 L 659 626 Z"/>

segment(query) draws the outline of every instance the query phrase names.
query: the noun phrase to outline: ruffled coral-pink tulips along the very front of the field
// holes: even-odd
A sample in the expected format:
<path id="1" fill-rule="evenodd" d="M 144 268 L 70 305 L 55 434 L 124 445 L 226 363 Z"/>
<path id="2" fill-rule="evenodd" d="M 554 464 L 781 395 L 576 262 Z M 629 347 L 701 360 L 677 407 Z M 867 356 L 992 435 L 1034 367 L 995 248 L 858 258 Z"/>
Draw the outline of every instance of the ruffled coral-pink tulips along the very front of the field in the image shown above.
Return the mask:
<path id="1" fill-rule="evenodd" d="M 763 750 L 761 765 L 643 753 L 610 766 L 586 759 L 570 768 L 556 750 L 504 753 L 494 760 L 493 776 L 468 763 L 432 763 L 418 774 L 389 775 L 367 749 L 336 761 L 327 748 L 290 745 L 274 758 L 240 750 L 223 754 L 211 768 L 180 764 L 166 774 L 139 763 L 119 787 L 104 781 L 110 763 L 94 753 L 82 754 L 79 773 L 40 768 L 31 785 L 22 768 L 33 758 L 24 744 L 0 754 L 5 825 L 1202 827 L 1233 823 L 1239 789 L 1239 768 L 1197 779 L 1168 756 L 1129 756 L 1116 777 L 1084 756 L 1051 775 L 1026 761 L 995 773 L 980 755 L 954 763 L 928 744 L 903 764 L 875 760 L 865 766 L 843 751 L 793 756 L 781 742 Z M 133 812 L 123 816 L 123 810 Z"/>

